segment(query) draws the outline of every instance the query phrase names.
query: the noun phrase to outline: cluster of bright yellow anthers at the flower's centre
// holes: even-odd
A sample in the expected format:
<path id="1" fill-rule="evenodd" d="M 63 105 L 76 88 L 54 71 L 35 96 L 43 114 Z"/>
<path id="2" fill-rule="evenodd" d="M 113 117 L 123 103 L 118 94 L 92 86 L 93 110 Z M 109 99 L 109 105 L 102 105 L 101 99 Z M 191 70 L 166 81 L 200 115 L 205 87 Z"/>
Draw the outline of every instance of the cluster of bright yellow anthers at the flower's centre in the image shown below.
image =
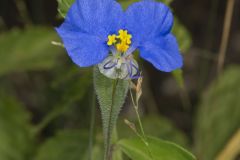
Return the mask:
<path id="1" fill-rule="evenodd" d="M 126 52 L 130 47 L 132 35 L 127 30 L 120 29 L 118 35 L 112 34 L 108 36 L 108 46 L 115 46 L 119 52 Z"/>

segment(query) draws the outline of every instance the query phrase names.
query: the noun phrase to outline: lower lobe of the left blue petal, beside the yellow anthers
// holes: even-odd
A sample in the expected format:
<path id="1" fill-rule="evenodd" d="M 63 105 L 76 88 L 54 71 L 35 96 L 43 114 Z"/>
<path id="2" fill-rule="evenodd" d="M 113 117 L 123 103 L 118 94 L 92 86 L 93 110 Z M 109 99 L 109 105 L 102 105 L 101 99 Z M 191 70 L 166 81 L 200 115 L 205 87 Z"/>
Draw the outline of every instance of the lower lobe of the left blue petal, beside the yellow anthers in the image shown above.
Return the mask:
<path id="1" fill-rule="evenodd" d="M 65 22 L 56 28 L 72 61 L 80 67 L 88 67 L 102 62 L 108 55 L 106 42 L 101 38 L 77 31 Z"/>

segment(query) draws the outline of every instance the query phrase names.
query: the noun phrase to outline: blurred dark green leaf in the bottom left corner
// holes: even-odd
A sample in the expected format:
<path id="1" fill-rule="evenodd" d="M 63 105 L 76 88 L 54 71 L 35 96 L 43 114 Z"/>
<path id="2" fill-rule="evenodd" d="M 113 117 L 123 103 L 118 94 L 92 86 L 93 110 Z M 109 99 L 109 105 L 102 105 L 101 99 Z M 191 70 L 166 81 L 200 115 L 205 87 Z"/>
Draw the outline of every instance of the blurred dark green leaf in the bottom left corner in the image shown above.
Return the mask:
<path id="1" fill-rule="evenodd" d="M 28 159 L 32 138 L 28 112 L 18 100 L 0 92 L 0 159 Z"/>

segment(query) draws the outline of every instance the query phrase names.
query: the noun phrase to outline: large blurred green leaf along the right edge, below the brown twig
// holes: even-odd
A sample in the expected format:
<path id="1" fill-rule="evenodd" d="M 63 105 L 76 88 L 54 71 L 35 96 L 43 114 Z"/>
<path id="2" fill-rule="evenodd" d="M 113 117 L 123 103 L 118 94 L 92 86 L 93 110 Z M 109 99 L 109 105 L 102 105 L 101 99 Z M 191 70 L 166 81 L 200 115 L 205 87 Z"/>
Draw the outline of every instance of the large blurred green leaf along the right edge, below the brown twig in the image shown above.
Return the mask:
<path id="1" fill-rule="evenodd" d="M 202 98 L 195 145 L 201 160 L 212 160 L 240 128 L 240 67 L 229 67 Z"/>

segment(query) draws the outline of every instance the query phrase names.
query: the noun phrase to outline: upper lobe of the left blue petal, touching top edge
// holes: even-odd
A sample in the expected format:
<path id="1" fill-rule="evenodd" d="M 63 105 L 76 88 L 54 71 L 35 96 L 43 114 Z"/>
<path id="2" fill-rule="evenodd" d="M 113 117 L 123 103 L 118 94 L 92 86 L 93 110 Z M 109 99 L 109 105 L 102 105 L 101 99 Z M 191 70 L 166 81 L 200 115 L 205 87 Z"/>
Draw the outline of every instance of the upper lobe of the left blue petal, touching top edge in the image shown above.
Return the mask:
<path id="1" fill-rule="evenodd" d="M 107 38 L 122 28 L 123 11 L 115 0 L 76 0 L 66 21 L 82 32 Z"/>

